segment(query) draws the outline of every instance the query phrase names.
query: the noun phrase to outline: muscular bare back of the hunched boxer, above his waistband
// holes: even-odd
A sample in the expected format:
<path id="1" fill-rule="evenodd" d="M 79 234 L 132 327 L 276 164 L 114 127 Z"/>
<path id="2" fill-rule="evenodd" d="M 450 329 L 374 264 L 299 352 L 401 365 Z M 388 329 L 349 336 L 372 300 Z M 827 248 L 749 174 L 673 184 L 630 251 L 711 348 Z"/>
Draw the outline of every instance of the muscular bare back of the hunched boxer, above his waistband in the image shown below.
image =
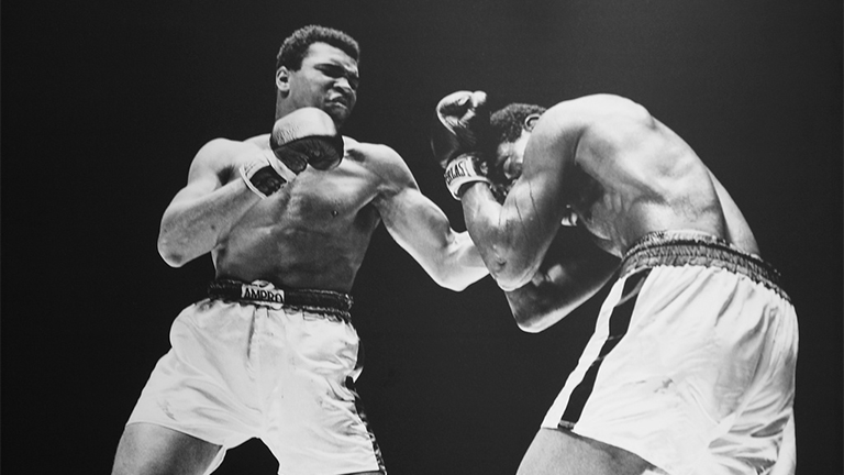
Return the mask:
<path id="1" fill-rule="evenodd" d="M 608 251 L 620 255 L 653 231 L 696 230 L 756 252 L 741 212 L 680 136 L 634 102 L 598 100 L 610 104 L 577 144 L 574 208 Z"/>

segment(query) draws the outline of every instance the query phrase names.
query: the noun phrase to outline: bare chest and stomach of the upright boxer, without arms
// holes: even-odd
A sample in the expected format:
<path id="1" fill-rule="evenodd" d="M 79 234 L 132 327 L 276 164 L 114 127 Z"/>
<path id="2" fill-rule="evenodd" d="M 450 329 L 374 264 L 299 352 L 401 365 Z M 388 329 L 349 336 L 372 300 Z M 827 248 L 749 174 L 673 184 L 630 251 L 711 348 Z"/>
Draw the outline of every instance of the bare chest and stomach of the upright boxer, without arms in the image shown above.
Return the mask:
<path id="1" fill-rule="evenodd" d="M 212 251 L 218 276 L 347 292 L 380 222 L 378 147 L 346 140 L 340 166 L 308 168 L 257 202 Z M 267 147 L 267 136 L 248 141 Z M 236 173 L 230 179 L 240 179 Z"/>

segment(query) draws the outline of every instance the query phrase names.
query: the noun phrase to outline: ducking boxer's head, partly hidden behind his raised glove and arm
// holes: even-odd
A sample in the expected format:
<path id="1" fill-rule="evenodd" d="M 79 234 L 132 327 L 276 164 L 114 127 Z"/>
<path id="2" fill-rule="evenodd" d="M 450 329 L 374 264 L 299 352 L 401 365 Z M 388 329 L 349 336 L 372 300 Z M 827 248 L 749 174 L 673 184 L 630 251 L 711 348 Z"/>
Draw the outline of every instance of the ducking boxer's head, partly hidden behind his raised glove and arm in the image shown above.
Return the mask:
<path id="1" fill-rule="evenodd" d="M 536 121 L 545 108 L 511 103 L 490 117 L 495 152 L 489 163 L 490 179 L 503 188 L 504 195 L 522 175 L 524 148 Z"/>

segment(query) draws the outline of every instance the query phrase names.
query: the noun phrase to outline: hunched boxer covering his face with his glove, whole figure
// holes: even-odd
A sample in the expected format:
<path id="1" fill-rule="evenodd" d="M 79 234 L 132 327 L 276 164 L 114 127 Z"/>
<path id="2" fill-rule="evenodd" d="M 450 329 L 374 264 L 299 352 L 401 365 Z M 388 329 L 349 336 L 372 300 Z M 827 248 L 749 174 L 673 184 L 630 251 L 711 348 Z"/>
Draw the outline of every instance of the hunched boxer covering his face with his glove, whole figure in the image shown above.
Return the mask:
<path id="1" fill-rule="evenodd" d="M 614 278 L 520 474 L 793 470 L 795 309 L 682 139 L 610 95 L 490 119 L 459 91 L 436 117 L 447 186 L 522 329 Z"/>

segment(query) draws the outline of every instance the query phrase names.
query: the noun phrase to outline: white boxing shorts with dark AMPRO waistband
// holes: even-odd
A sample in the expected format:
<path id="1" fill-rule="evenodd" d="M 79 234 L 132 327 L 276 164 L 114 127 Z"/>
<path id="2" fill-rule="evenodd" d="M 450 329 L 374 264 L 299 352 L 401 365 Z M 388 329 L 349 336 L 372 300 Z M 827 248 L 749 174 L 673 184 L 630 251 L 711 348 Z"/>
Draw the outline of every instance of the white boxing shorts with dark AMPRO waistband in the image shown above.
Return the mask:
<path id="1" fill-rule="evenodd" d="M 185 309 L 127 423 L 163 426 L 227 449 L 260 439 L 284 475 L 386 473 L 354 380 L 352 298 L 215 280 Z"/>

